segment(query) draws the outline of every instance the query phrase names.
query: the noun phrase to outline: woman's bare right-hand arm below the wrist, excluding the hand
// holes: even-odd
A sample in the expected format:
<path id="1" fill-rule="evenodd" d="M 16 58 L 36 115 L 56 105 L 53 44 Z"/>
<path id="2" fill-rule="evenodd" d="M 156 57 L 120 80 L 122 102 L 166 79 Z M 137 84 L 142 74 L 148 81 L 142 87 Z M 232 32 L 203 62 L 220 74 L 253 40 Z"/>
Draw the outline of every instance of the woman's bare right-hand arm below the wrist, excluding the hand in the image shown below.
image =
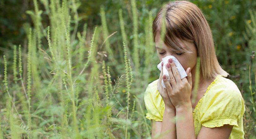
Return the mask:
<path id="1" fill-rule="evenodd" d="M 194 138 L 195 129 L 192 114 L 192 106 L 176 108 L 177 117 L 184 117 L 183 120 L 176 121 L 177 138 Z M 202 126 L 197 139 L 212 138 L 212 139 L 228 139 L 233 125 L 225 124 L 221 127 L 207 128 Z M 184 133 L 184 131 L 186 131 Z"/>

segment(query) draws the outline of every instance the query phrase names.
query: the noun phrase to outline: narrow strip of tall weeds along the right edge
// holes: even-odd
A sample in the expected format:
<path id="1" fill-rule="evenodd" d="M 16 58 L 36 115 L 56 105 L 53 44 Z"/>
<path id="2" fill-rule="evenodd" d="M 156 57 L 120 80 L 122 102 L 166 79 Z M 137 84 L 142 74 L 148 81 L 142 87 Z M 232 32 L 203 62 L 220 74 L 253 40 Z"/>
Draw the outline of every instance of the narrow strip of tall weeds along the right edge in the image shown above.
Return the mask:
<path id="1" fill-rule="evenodd" d="M 247 50 L 248 70 L 245 69 L 245 76 L 247 76 L 245 78 L 249 81 L 246 84 L 248 92 L 243 93 L 243 97 L 248 98 L 245 100 L 244 130 L 247 133 L 245 138 L 256 138 L 256 11 L 249 10 L 249 13 L 252 23 L 245 21 L 246 31 L 243 32 L 245 39 L 249 42 Z"/>

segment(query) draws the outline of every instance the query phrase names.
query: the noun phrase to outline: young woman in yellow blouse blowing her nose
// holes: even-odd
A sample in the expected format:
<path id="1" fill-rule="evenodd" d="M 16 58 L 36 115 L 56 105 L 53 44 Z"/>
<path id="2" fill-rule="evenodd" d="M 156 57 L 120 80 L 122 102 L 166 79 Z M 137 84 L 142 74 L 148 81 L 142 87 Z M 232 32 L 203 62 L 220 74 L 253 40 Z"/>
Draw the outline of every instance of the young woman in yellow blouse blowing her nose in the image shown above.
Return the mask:
<path id="1" fill-rule="evenodd" d="M 181 79 L 169 59 L 165 66 L 170 82 L 163 76 L 162 67 L 159 79 L 148 85 L 144 101 L 146 118 L 152 123 L 152 138 L 244 138 L 242 95 L 236 84 L 225 78 L 229 74 L 218 63 L 213 36 L 200 9 L 187 1 L 167 3 L 155 17 L 153 35 L 159 60 L 168 55 L 176 57 L 188 76 Z M 194 102 L 191 92 L 197 57 L 200 75 Z M 162 79 L 166 88 L 162 87 Z"/>

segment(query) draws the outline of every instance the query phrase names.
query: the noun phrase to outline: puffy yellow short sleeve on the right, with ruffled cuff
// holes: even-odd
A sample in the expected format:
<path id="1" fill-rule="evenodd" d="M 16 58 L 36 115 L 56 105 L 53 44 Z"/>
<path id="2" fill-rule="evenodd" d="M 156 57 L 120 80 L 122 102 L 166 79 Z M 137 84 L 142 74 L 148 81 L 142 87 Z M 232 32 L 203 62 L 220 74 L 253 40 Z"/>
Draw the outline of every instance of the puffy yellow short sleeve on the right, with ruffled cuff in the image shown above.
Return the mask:
<path id="1" fill-rule="evenodd" d="M 220 127 L 230 124 L 238 127 L 238 120 L 244 115 L 245 105 L 239 89 L 222 87 L 208 92 L 200 109 L 201 124 L 204 127 Z"/>

